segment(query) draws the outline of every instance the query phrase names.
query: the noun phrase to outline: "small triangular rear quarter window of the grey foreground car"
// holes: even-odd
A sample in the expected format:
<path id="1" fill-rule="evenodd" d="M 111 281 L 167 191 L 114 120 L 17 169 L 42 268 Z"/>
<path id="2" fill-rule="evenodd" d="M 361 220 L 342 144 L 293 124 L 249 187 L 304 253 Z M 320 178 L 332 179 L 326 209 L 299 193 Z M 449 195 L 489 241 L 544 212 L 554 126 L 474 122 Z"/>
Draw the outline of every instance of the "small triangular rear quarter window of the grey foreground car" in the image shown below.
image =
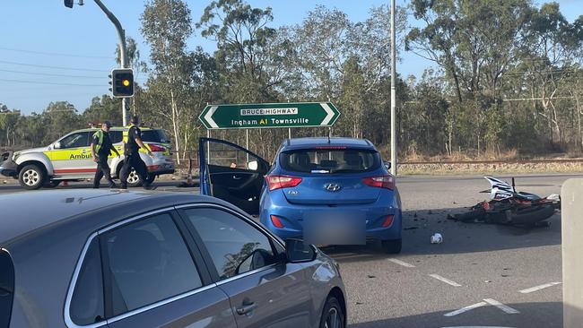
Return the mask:
<path id="1" fill-rule="evenodd" d="M 91 241 L 75 283 L 70 307 L 74 324 L 98 323 L 105 318 L 103 306 L 103 276 L 100 247 L 97 238 Z"/>

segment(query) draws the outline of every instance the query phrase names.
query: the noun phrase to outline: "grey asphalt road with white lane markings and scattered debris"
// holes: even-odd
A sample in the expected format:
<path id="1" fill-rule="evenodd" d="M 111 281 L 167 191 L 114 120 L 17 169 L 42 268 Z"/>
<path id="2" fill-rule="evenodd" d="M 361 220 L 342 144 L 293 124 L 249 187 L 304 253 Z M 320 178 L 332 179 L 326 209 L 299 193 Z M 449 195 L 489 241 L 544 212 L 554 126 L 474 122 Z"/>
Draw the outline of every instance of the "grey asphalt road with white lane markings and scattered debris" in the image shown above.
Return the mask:
<path id="1" fill-rule="evenodd" d="M 570 177 L 580 176 L 517 177 L 517 189 L 559 194 Z M 154 186 L 198 193 L 178 183 Z M 399 177 L 397 186 L 405 214 L 401 255 L 375 245 L 324 249 L 341 265 L 352 328 L 562 327 L 560 213 L 550 228 L 460 223 L 447 214 L 488 197 L 478 193 L 489 188 L 482 177 Z M 22 189 L 0 185 L 0 197 L 11 192 Z M 430 243 L 435 232 L 442 244 Z"/>

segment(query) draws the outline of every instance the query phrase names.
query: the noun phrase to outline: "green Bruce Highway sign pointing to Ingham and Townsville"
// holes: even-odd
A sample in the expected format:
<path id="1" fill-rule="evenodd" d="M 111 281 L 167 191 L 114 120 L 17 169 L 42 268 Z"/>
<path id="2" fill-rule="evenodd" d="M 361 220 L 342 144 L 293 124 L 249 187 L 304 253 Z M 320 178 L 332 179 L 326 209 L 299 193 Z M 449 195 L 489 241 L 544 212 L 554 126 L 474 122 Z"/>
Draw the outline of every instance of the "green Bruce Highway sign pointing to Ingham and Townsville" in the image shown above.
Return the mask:
<path id="1" fill-rule="evenodd" d="M 332 126 L 340 112 L 331 102 L 208 105 L 200 119 L 207 129 Z"/>

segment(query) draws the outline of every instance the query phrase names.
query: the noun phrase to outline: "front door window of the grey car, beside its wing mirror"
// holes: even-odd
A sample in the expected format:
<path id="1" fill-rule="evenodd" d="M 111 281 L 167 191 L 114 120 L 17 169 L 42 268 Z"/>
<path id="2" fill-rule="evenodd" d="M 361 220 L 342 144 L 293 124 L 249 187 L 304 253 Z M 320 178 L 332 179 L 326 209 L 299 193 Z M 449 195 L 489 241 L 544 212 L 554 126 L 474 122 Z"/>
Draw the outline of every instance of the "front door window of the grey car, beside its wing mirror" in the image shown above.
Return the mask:
<path id="1" fill-rule="evenodd" d="M 212 208 L 185 212 L 208 250 L 220 279 L 277 262 L 269 238 L 238 216 Z"/>

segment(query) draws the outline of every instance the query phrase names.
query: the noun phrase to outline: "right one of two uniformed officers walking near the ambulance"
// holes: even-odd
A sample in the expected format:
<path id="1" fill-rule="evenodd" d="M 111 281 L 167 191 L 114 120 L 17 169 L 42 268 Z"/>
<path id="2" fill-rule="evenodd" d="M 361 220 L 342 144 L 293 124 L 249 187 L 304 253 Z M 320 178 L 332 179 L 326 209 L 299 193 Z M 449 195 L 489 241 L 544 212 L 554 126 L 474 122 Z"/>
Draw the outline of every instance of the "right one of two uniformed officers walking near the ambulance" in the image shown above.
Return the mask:
<path id="1" fill-rule="evenodd" d="M 127 131 L 127 139 L 124 140 L 126 142 L 126 158 L 124 159 L 124 166 L 121 168 L 122 189 L 127 188 L 127 177 L 129 177 L 132 168 L 135 169 L 135 173 L 142 180 L 144 189 L 150 189 L 150 183 L 148 182 L 148 168 L 146 168 L 144 160 L 140 158 L 139 151 L 140 148 L 144 148 L 150 156 L 152 156 L 152 151 L 146 148 L 144 142 L 142 142 L 142 131 L 140 131 L 140 128 L 138 127 L 139 124 L 140 121 L 138 117 L 132 117 L 129 131 Z"/>

